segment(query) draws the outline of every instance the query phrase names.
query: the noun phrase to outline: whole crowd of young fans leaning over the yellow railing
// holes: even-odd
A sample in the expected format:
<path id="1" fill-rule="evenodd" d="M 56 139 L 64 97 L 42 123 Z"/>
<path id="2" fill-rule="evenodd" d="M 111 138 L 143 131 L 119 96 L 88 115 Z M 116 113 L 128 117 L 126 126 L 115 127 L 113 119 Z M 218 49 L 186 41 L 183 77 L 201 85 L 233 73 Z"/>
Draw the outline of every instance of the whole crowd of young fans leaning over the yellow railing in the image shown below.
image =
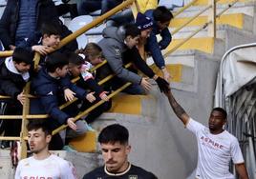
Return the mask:
<path id="1" fill-rule="evenodd" d="M 121 2 L 84 0 L 78 6 L 78 13 L 88 14 L 93 10 L 105 13 Z M 25 102 L 23 89 L 31 81 L 31 93 L 37 98 L 31 99 L 30 113 L 49 114 L 53 129 L 64 124 L 69 126 L 53 136 L 50 149 L 70 149 L 68 144 L 71 138 L 94 130 L 90 124 L 111 108 L 108 95 L 112 90 L 131 82 L 132 85 L 123 92 L 146 94 L 151 89 L 149 78 L 152 78 L 160 91 L 167 91 L 170 80 L 160 52 L 171 42 L 168 25 L 173 15 L 170 10 L 158 7 L 139 12 L 136 20 L 132 17 L 130 22 L 120 21 L 122 23 L 117 23 L 118 26 L 111 25 L 104 29 L 103 38 L 97 44 L 88 43 L 85 49 L 77 50 L 75 40 L 58 48 L 60 40 L 72 33 L 58 18 L 61 11 L 67 12 L 64 8 L 71 12 L 71 4 L 59 7 L 52 0 L 9 0 L 0 20 L 0 40 L 4 50 L 13 50 L 11 57 L 0 61 L 0 94 L 11 96 L 11 99 L 1 99 L 1 114 L 22 113 Z M 119 17 L 127 19 L 123 15 Z M 115 21 L 115 18 L 109 20 Z M 157 41 L 157 34 L 162 37 L 160 42 Z M 163 78 L 148 67 L 139 54 L 139 46 L 152 55 Z M 40 54 L 36 69 L 33 64 L 34 52 Z M 90 72 L 104 60 L 107 61 L 104 66 Z M 124 65 L 130 62 L 133 65 L 125 69 Z M 138 70 L 147 77 L 139 75 Z M 112 73 L 116 74 L 113 79 L 102 86 L 97 85 Z M 79 80 L 74 84 L 71 80 L 75 77 L 79 77 Z M 62 104 L 75 98 L 78 99 L 75 103 L 59 109 Z M 102 105 L 75 121 L 79 112 L 100 100 L 104 101 Z M 20 127 L 21 120 L 3 120 L 0 132 L 4 132 L 4 136 L 18 136 Z M 10 141 L 2 141 L 2 149 L 9 147 Z"/>

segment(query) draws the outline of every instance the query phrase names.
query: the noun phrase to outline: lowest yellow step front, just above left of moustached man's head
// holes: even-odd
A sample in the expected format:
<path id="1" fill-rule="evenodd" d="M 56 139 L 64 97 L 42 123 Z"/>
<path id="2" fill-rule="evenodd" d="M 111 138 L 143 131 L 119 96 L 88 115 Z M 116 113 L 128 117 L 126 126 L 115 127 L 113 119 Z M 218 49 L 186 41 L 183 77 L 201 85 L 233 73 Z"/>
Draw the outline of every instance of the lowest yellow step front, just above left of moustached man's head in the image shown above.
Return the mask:
<path id="1" fill-rule="evenodd" d="M 69 145 L 79 152 L 96 152 L 96 137 L 96 131 L 87 131 L 71 139 Z"/>

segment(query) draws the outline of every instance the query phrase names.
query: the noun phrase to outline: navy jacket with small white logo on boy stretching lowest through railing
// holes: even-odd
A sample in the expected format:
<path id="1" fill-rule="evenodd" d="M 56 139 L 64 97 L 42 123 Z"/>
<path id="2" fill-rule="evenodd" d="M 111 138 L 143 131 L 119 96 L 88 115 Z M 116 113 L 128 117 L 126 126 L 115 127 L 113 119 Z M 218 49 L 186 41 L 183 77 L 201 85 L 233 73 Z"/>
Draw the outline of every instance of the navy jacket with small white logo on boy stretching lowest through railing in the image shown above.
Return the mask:
<path id="1" fill-rule="evenodd" d="M 59 125 L 65 124 L 68 118 L 74 117 L 58 108 L 60 106 L 59 99 L 63 98 L 63 90 L 67 88 L 73 90 L 77 98 L 85 99 L 86 91 L 71 83 L 68 75 L 56 79 L 50 76 L 45 68 L 42 68 L 32 80 L 32 89 L 39 97 L 45 112 L 57 120 Z"/>

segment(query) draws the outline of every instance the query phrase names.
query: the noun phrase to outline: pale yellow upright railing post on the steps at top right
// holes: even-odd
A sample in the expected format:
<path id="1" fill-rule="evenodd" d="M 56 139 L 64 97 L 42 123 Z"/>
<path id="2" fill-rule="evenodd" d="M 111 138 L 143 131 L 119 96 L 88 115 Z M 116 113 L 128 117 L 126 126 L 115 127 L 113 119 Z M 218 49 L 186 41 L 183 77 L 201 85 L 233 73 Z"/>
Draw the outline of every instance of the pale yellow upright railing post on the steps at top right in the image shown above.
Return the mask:
<path id="1" fill-rule="evenodd" d="M 209 0 L 209 5 L 212 8 L 209 10 L 208 22 L 211 22 L 208 26 L 208 36 L 216 37 L 216 0 Z"/>

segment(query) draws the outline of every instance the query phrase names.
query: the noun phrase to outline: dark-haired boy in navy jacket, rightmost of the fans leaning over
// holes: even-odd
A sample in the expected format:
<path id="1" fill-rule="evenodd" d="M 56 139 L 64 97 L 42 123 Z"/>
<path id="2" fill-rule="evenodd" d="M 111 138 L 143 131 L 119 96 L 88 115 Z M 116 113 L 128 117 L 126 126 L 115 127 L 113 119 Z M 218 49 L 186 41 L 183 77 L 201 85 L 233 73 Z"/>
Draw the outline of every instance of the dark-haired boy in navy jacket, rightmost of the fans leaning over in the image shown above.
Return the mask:
<path id="1" fill-rule="evenodd" d="M 172 40 L 172 35 L 168 30 L 168 26 L 173 18 L 173 14 L 165 7 L 158 7 L 155 10 L 147 10 L 144 14 L 153 20 L 153 30 L 151 31 L 150 36 L 146 38 L 145 50 L 152 55 L 156 66 L 162 72 L 163 78 L 166 81 L 170 81 L 170 73 L 165 67 L 164 58 L 160 50 L 166 49 Z M 139 14 L 136 20 L 137 24 L 139 24 L 141 17 L 141 14 Z M 161 36 L 160 42 L 158 42 L 157 39 L 158 34 Z"/>

